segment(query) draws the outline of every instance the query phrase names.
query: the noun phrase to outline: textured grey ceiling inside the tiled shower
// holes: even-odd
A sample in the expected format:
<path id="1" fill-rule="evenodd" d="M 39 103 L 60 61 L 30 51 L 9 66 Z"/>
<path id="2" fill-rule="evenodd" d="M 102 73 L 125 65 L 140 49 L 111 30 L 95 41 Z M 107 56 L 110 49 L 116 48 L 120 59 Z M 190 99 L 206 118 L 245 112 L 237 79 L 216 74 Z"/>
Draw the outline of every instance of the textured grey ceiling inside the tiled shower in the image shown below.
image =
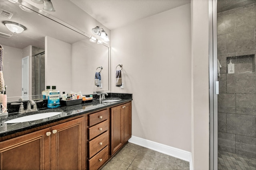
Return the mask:
<path id="1" fill-rule="evenodd" d="M 256 3 L 256 0 L 217 0 L 217 13 Z"/>

